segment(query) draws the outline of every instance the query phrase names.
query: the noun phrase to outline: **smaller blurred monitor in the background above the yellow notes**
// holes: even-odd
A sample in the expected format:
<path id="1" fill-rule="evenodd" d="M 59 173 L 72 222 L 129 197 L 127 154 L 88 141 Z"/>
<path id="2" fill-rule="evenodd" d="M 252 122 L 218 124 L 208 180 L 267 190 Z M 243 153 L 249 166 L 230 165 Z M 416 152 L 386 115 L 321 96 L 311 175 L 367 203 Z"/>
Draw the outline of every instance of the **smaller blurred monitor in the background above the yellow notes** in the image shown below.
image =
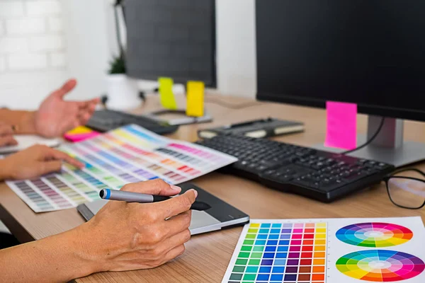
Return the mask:
<path id="1" fill-rule="evenodd" d="M 215 87 L 215 0 L 125 0 L 127 74 Z"/>

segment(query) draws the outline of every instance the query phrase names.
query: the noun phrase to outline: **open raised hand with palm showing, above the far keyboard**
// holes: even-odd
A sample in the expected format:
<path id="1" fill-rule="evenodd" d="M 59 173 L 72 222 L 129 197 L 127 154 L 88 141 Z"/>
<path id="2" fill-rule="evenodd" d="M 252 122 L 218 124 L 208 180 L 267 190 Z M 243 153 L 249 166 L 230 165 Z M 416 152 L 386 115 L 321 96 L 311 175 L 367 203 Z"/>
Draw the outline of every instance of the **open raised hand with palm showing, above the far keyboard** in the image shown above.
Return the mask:
<path id="1" fill-rule="evenodd" d="M 98 98 L 87 101 L 64 101 L 77 81 L 70 79 L 62 88 L 47 96 L 33 117 L 35 132 L 42 137 L 60 137 L 74 127 L 86 125 L 93 115 Z"/>

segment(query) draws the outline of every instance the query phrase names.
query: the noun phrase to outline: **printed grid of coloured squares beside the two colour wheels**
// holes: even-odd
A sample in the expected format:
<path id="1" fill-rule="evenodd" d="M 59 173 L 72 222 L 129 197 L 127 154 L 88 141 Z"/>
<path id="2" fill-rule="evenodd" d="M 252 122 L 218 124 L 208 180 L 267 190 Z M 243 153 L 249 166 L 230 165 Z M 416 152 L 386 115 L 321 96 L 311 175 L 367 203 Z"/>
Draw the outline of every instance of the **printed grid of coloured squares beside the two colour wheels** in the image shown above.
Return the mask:
<path id="1" fill-rule="evenodd" d="M 327 224 L 247 224 L 222 282 L 314 282 L 326 277 Z"/>

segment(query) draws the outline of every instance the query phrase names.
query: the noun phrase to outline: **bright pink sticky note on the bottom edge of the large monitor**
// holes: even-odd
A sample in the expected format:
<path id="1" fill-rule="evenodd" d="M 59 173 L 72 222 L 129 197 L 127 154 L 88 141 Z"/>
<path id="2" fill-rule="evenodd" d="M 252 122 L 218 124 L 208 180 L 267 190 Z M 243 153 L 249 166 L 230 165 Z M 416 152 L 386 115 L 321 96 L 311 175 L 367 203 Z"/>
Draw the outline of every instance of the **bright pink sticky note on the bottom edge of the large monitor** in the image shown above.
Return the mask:
<path id="1" fill-rule="evenodd" d="M 357 142 L 357 105 L 327 101 L 324 146 L 355 149 Z"/>

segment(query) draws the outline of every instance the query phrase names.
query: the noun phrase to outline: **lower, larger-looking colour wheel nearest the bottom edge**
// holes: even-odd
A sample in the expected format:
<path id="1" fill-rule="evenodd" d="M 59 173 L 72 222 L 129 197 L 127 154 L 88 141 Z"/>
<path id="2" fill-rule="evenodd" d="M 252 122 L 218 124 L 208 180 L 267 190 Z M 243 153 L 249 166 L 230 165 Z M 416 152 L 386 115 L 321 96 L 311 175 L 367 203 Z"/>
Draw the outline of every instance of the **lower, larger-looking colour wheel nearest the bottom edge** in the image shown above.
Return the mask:
<path id="1" fill-rule="evenodd" d="M 394 282 L 410 279 L 424 271 L 424 262 L 408 253 L 392 250 L 361 250 L 336 261 L 336 268 L 355 279 Z"/>

